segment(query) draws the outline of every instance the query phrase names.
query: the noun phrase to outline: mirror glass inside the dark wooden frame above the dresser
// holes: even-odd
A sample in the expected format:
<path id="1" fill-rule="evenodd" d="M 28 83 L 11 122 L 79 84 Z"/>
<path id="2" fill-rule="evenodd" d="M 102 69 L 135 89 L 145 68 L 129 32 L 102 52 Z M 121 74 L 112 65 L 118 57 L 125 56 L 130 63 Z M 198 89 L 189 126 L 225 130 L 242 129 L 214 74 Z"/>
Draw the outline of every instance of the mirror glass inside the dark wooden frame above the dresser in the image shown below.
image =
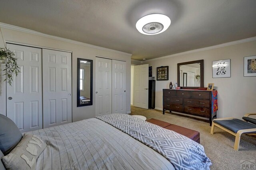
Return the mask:
<path id="1" fill-rule="evenodd" d="M 200 63 L 180 65 L 180 85 L 200 87 Z"/>

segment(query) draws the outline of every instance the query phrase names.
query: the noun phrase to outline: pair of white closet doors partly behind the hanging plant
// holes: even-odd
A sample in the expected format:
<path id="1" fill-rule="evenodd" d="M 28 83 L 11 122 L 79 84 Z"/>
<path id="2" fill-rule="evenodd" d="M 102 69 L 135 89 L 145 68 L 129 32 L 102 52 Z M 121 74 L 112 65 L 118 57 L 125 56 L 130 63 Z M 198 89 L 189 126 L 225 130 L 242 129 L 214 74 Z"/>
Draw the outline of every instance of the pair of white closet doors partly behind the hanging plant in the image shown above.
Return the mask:
<path id="1" fill-rule="evenodd" d="M 21 132 L 72 122 L 71 53 L 7 44 L 21 73 L 6 85 L 6 116 Z M 42 57 L 43 56 L 43 57 Z"/>

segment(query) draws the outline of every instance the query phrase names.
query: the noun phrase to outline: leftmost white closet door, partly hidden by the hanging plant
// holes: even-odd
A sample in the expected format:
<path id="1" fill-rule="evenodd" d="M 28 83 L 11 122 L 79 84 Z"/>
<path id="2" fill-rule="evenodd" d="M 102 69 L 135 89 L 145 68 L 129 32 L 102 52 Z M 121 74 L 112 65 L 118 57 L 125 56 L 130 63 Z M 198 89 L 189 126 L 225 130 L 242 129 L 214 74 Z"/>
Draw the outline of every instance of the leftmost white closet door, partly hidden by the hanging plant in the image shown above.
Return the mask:
<path id="1" fill-rule="evenodd" d="M 7 44 L 21 73 L 6 85 L 6 112 L 21 132 L 42 128 L 42 49 Z"/>

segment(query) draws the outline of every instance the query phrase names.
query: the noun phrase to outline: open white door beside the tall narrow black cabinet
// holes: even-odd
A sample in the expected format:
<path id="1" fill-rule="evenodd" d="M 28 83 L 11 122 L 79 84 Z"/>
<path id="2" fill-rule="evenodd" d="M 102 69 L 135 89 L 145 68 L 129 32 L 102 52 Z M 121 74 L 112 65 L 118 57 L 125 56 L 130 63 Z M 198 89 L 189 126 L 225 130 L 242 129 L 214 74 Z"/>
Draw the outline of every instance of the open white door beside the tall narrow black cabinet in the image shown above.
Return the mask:
<path id="1" fill-rule="evenodd" d="M 134 65 L 134 106 L 148 109 L 148 64 Z"/>

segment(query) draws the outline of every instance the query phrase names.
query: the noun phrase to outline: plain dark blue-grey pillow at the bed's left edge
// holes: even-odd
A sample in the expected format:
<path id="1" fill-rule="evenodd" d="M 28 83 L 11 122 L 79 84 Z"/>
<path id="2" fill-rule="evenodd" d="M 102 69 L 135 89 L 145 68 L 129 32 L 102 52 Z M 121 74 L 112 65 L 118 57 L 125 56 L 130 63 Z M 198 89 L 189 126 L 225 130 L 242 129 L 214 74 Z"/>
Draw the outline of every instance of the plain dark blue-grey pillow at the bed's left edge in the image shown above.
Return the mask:
<path id="1" fill-rule="evenodd" d="M 0 150 L 7 155 L 22 138 L 22 134 L 15 123 L 0 114 Z"/>

